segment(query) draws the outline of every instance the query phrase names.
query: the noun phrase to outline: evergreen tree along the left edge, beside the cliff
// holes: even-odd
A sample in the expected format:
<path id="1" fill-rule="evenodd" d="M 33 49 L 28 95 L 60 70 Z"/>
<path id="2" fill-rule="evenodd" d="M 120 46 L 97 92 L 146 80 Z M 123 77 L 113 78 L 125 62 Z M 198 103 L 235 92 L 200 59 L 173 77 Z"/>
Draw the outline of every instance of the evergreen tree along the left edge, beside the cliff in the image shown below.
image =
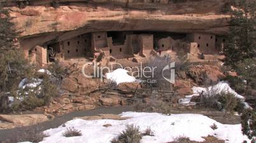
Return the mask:
<path id="1" fill-rule="evenodd" d="M 30 66 L 25 61 L 17 45 L 17 33 L 11 23 L 9 9 L 0 3 L 0 96 L 17 88 L 22 77 L 29 73 Z"/>

